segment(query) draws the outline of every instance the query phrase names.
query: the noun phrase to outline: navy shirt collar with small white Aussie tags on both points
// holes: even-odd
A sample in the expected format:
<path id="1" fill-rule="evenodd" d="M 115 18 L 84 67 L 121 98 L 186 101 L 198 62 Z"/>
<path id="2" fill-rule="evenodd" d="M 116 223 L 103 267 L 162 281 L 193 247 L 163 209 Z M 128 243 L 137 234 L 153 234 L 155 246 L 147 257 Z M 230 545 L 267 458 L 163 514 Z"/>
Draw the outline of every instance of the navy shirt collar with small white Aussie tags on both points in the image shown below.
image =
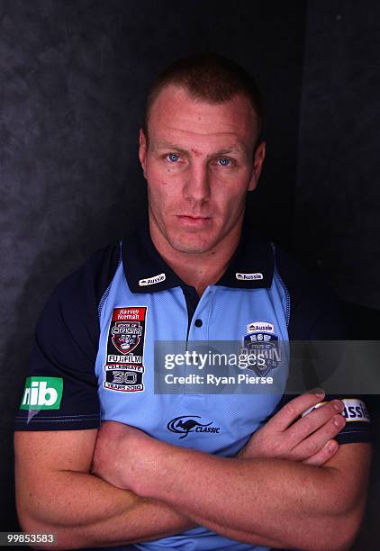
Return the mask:
<path id="1" fill-rule="evenodd" d="M 185 285 L 158 254 L 150 239 L 148 221 L 129 239 L 123 239 L 122 266 L 132 293 L 156 293 Z M 248 224 L 244 224 L 240 244 L 230 265 L 214 285 L 268 288 L 272 285 L 274 267 L 271 243 L 260 239 Z"/>

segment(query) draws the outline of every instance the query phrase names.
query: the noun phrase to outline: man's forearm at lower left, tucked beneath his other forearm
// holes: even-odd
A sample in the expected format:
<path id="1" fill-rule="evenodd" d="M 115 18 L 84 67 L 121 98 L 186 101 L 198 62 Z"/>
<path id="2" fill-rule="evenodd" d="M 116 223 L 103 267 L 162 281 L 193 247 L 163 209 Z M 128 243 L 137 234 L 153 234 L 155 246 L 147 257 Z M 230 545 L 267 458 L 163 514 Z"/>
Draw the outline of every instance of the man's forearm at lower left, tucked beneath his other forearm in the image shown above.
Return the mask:
<path id="1" fill-rule="evenodd" d="M 117 546 L 157 539 L 192 528 L 167 504 L 114 488 L 92 474 L 60 471 L 41 489 L 18 484 L 19 516 L 26 531 L 50 531 L 56 549 Z"/>

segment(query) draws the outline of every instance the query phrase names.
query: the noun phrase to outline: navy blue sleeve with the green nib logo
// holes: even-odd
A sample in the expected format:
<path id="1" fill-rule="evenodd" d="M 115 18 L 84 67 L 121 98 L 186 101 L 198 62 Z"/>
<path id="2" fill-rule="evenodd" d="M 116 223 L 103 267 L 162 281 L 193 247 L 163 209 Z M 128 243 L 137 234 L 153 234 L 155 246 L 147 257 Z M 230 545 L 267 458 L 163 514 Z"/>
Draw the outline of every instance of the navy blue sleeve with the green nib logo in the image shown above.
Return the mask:
<path id="1" fill-rule="evenodd" d="M 16 430 L 97 429 L 98 304 L 119 247 L 99 251 L 50 295 L 37 323 Z"/>

